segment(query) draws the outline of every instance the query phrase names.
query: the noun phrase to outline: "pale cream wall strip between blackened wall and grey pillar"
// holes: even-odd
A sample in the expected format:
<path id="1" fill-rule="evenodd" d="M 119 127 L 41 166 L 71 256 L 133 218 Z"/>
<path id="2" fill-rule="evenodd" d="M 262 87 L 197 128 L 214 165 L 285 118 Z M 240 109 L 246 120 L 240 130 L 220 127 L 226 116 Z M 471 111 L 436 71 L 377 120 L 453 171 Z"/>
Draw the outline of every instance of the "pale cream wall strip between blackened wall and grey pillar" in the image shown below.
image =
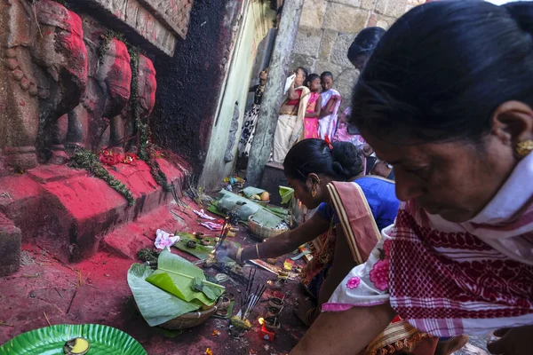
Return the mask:
<path id="1" fill-rule="evenodd" d="M 240 28 L 234 27 L 234 30 L 239 31 L 239 33 L 235 36 L 235 48 L 230 59 L 231 65 L 221 91 L 215 124 L 211 130 L 209 149 L 198 183 L 208 191 L 218 190 L 223 178 L 231 174 L 235 168 L 237 144 L 241 135 L 248 90 L 251 85 L 252 67 L 259 43 L 267 36 L 268 29 L 272 27 L 274 16 L 275 13 L 268 10 L 267 2 L 260 0 L 244 1 Z M 253 84 L 255 82 L 254 78 Z M 239 103 L 239 128 L 235 134 L 233 147 L 234 161 L 226 163 L 224 162 L 224 154 L 235 101 Z"/>

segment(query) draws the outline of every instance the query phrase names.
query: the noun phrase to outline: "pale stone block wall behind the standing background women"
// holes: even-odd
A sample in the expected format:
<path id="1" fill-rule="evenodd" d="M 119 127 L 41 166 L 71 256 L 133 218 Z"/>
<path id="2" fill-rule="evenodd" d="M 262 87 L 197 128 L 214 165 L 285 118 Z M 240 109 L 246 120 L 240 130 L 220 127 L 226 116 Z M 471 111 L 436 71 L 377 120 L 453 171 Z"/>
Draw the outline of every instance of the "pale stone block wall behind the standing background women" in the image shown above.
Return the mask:
<path id="1" fill-rule="evenodd" d="M 410 8 L 425 0 L 306 0 L 292 51 L 292 66 L 306 67 L 320 75 L 330 71 L 335 87 L 350 104 L 351 91 L 359 77 L 346 58 L 354 37 L 363 28 L 389 28 Z"/>

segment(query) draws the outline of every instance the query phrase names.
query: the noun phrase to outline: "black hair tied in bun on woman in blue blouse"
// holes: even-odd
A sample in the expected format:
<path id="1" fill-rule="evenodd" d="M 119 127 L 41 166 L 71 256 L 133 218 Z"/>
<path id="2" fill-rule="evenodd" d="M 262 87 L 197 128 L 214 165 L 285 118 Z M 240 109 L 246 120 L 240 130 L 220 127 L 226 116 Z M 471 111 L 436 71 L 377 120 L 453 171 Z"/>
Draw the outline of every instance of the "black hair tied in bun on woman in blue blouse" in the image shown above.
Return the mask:
<path id="1" fill-rule="evenodd" d="M 294 145 L 283 162 L 285 175 L 306 181 L 309 174 L 325 175 L 346 181 L 362 173 L 362 154 L 348 142 L 335 142 L 330 146 L 318 138 L 304 139 Z"/>

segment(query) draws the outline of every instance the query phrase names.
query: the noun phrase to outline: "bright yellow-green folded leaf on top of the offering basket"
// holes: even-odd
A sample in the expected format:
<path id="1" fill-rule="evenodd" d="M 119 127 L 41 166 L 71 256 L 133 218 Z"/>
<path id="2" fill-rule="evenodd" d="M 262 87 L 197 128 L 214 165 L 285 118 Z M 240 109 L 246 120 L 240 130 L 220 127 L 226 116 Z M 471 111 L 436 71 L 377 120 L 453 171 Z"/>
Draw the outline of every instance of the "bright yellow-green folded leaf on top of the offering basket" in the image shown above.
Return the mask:
<path id="1" fill-rule="evenodd" d="M 157 270 L 147 277 L 147 281 L 184 301 L 195 304 L 214 304 L 215 301 L 209 299 L 203 292 L 195 292 L 193 290 L 191 286 L 195 278 L 203 280 L 203 284 L 209 286 L 215 292 L 216 297 L 222 295 L 226 289 L 223 286 L 205 280 L 205 274 L 202 269 L 167 250 L 163 250 L 159 255 Z"/>

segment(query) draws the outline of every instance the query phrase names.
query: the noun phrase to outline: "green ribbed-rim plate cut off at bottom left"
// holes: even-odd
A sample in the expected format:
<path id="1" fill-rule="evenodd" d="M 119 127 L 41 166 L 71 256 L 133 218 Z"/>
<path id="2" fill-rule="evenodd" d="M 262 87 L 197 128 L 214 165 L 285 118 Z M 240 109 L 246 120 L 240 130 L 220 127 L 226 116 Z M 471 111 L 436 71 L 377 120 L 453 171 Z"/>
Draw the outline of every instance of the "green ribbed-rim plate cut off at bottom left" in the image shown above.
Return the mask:
<path id="1" fill-rule="evenodd" d="M 61 324 L 32 330 L 0 346 L 0 355 L 64 355 L 63 346 L 76 337 L 89 341 L 91 355 L 147 355 L 130 335 L 100 324 Z"/>

